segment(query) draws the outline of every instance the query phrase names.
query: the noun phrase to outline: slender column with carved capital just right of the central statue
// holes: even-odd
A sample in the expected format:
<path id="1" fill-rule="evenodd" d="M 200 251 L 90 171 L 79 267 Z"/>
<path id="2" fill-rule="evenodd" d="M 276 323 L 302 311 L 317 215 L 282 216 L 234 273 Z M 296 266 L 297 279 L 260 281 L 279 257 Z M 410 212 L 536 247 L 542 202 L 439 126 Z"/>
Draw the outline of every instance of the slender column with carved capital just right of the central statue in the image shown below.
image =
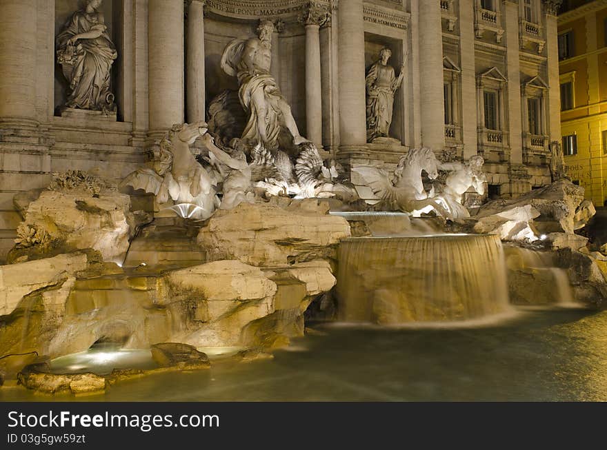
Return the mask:
<path id="1" fill-rule="evenodd" d="M 321 24 L 327 14 L 312 6 L 302 17 L 306 25 L 306 134 L 307 138 L 322 147 L 322 80 L 320 70 Z"/>

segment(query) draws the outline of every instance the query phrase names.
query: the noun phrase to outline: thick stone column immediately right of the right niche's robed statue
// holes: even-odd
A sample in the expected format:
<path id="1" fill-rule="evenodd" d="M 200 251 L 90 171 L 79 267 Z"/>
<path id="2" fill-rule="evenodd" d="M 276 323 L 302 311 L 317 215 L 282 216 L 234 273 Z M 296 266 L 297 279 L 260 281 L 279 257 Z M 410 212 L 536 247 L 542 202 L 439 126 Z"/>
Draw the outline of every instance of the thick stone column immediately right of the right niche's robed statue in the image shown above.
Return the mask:
<path id="1" fill-rule="evenodd" d="M 443 35 L 439 1 L 419 0 L 421 141 L 435 152 L 445 147 Z"/>

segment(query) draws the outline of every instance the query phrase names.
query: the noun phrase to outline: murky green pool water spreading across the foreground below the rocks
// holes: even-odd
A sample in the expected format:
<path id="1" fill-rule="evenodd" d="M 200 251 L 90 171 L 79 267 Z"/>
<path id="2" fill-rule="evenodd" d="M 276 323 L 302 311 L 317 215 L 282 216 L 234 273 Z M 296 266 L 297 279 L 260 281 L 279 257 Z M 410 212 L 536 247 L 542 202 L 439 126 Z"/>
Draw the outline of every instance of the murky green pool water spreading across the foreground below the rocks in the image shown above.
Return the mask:
<path id="1" fill-rule="evenodd" d="M 312 325 L 273 360 L 128 380 L 106 393 L 0 400 L 607 400 L 607 311 L 519 310 L 482 327 Z"/>

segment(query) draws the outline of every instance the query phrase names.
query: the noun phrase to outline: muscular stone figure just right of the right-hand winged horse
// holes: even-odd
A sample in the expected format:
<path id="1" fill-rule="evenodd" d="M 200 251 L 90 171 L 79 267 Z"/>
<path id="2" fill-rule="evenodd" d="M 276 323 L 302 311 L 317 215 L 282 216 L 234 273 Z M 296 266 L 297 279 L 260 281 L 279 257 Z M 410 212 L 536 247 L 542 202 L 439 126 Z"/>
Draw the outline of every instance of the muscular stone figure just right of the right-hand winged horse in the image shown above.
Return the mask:
<path id="1" fill-rule="evenodd" d="M 487 177 L 483 173 L 484 159 L 481 156 L 471 156 L 465 163 L 452 162 L 441 164 L 441 170 L 451 173 L 447 176 L 443 192 L 435 197 L 442 201 L 449 212 L 450 219 L 470 217 L 468 209 L 461 204 L 461 196 L 470 187 L 474 187 L 478 194 L 485 193 Z"/>

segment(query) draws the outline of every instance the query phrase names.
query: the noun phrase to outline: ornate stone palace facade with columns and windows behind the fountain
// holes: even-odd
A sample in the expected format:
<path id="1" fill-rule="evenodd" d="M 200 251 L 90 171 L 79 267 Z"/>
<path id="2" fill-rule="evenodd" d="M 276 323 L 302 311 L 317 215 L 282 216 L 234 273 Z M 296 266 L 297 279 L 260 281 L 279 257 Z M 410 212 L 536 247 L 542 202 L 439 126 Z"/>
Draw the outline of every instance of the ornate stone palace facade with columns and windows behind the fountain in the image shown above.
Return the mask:
<path id="1" fill-rule="evenodd" d="M 101 2 L 99 2 L 101 3 Z M 394 167 L 409 148 L 486 160 L 490 196 L 550 182 L 561 123 L 560 0 L 105 0 L 118 57 L 117 112 L 61 108 L 56 37 L 79 0 L 0 2 L 0 260 L 21 220 L 14 194 L 50 174 L 126 176 L 174 123 L 208 119 L 237 90 L 221 70 L 234 39 L 271 19 L 271 72 L 301 134 L 349 169 Z M 404 79 L 389 138 L 367 142 L 366 72 L 382 48 Z M 356 183 L 356 180 L 352 180 Z M 149 207 L 135 197 L 134 208 Z"/>

